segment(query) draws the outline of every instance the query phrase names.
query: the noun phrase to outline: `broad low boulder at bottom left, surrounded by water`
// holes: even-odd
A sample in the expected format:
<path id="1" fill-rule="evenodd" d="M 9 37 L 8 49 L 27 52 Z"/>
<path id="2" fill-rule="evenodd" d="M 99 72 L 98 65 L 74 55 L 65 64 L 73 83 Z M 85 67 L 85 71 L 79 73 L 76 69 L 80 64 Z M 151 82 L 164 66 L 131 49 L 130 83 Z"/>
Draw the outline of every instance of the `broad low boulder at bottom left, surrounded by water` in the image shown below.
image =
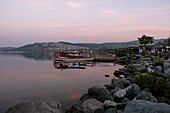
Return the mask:
<path id="1" fill-rule="evenodd" d="M 63 113 L 58 101 L 27 101 L 21 102 L 6 113 Z"/>

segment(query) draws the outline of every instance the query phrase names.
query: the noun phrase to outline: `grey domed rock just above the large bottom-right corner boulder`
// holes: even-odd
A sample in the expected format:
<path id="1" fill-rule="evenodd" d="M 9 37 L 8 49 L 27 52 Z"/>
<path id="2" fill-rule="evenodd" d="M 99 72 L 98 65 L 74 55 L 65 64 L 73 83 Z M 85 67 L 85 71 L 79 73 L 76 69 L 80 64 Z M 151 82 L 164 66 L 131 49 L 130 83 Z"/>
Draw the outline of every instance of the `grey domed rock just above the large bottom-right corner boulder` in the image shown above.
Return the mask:
<path id="1" fill-rule="evenodd" d="M 137 94 L 136 100 L 147 100 L 150 102 L 158 102 L 158 100 L 148 91 L 141 91 Z"/>

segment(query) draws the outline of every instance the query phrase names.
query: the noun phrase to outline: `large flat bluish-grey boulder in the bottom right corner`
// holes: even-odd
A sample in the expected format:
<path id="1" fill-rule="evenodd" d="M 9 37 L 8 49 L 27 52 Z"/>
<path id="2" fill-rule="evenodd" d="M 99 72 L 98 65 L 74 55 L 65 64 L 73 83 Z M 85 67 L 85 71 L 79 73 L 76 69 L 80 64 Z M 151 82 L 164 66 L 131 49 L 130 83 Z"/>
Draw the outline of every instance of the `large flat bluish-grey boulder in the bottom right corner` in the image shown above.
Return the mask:
<path id="1" fill-rule="evenodd" d="M 146 100 L 133 100 L 126 105 L 124 113 L 170 113 L 170 105 Z"/>

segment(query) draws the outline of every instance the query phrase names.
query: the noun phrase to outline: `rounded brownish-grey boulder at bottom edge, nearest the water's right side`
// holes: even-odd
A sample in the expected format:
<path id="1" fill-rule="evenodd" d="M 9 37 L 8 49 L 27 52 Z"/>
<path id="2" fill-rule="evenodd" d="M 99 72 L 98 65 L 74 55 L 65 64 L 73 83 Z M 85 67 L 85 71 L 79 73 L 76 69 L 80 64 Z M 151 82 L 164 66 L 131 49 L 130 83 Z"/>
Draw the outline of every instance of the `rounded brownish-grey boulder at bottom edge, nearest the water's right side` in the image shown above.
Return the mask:
<path id="1" fill-rule="evenodd" d="M 103 103 L 93 98 L 90 98 L 84 101 L 82 105 L 80 106 L 80 109 L 82 113 L 103 113 L 104 112 Z"/>

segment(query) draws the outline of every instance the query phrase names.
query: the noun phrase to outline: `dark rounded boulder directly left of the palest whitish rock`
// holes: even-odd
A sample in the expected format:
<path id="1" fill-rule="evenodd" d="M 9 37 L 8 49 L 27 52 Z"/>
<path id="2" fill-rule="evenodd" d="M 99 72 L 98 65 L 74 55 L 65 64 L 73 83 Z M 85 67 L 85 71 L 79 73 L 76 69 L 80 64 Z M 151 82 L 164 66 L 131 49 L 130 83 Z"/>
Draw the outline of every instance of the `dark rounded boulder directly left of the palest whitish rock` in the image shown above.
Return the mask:
<path id="1" fill-rule="evenodd" d="M 114 100 L 114 98 L 107 89 L 102 89 L 98 93 L 98 100 L 104 102 L 105 100 Z"/>

